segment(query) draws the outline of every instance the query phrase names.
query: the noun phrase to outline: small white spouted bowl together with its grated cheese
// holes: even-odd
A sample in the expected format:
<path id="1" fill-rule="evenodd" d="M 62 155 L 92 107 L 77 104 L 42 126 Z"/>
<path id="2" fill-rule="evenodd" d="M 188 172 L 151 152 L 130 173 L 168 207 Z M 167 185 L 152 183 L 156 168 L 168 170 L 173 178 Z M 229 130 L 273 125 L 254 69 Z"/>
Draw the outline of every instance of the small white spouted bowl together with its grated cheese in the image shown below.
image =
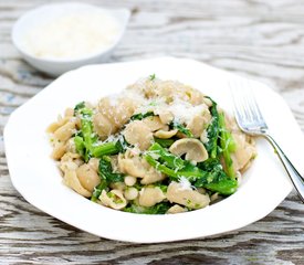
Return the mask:
<path id="1" fill-rule="evenodd" d="M 105 62 L 122 39 L 130 11 L 87 3 L 52 3 L 15 22 L 12 42 L 23 59 L 52 76 Z"/>

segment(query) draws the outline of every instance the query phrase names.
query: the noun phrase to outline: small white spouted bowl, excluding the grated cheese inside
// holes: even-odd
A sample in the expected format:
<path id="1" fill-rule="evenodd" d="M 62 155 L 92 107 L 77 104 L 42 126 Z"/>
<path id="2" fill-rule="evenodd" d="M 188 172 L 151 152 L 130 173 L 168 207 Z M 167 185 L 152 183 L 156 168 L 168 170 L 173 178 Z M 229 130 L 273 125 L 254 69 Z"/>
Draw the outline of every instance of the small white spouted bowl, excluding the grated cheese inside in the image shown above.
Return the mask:
<path id="1" fill-rule="evenodd" d="M 24 47 L 23 38 L 30 30 L 35 28 L 38 24 L 50 21 L 52 19 L 62 18 L 65 14 L 74 14 L 77 12 L 96 12 L 102 11 L 107 15 L 112 17 L 118 23 L 119 30 L 117 36 L 112 45 L 107 49 L 102 47 L 101 51 L 90 53 L 85 56 L 75 57 L 75 59 L 45 59 L 39 57 Z M 21 53 L 23 59 L 34 66 L 35 68 L 48 73 L 52 76 L 57 76 L 63 74 L 66 71 L 77 68 L 86 64 L 101 63 L 107 60 L 107 57 L 113 52 L 114 47 L 117 45 L 122 39 L 127 22 L 129 20 L 130 12 L 127 9 L 103 9 L 96 6 L 77 3 L 77 2 L 67 2 L 67 3 L 55 3 L 46 4 L 40 8 L 33 9 L 25 14 L 23 14 L 14 24 L 12 30 L 12 42 L 17 50 Z M 102 26 L 102 25 L 101 25 Z M 50 32 L 50 34 L 52 34 Z"/>

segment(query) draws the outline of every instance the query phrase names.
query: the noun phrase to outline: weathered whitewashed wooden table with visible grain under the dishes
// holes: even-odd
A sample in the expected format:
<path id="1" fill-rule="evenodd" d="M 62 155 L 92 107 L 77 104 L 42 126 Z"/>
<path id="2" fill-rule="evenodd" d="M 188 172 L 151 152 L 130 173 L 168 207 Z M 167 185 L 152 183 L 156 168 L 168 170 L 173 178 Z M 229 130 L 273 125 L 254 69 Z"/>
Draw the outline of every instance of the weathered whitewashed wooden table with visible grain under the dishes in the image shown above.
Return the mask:
<path id="1" fill-rule="evenodd" d="M 3 127 L 53 80 L 21 60 L 10 34 L 23 12 L 46 2 L 0 1 L 0 264 L 304 264 L 304 206 L 295 193 L 247 227 L 169 244 L 103 240 L 24 201 L 10 181 Z M 87 2 L 132 10 L 112 62 L 171 54 L 260 80 L 285 98 L 304 129 L 303 0 Z"/>

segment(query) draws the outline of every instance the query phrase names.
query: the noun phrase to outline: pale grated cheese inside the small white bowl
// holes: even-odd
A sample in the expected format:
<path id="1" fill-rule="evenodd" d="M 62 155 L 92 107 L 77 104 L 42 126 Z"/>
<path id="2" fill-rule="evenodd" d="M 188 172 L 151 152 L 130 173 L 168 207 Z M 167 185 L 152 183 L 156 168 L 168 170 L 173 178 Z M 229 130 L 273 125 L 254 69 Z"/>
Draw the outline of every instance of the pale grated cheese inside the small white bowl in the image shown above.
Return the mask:
<path id="1" fill-rule="evenodd" d="M 45 59 L 81 59 L 108 49 L 119 24 L 104 12 L 66 14 L 36 25 L 24 34 L 24 49 Z"/>

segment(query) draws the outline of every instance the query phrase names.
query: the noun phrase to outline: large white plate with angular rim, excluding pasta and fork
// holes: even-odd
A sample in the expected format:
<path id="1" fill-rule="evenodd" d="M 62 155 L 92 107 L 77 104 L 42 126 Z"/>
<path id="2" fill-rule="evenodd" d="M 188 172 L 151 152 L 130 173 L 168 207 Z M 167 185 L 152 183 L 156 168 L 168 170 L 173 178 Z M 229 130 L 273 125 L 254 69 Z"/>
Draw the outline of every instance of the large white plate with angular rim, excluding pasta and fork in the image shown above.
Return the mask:
<path id="1" fill-rule="evenodd" d="M 69 72 L 18 108 L 4 129 L 12 183 L 34 206 L 92 234 L 119 241 L 154 243 L 214 235 L 245 226 L 269 214 L 291 192 L 291 182 L 273 149 L 256 140 L 259 156 L 239 190 L 214 205 L 171 215 L 145 215 L 111 210 L 91 202 L 62 183 L 45 128 L 66 107 L 81 100 L 96 102 L 117 93 L 139 77 L 156 74 L 178 80 L 232 109 L 228 83 L 240 78 L 224 71 L 185 59 L 85 66 Z M 301 165 L 303 135 L 287 105 L 265 85 L 253 82 L 254 92 L 274 137 Z M 303 166 L 302 168 L 303 169 Z"/>

